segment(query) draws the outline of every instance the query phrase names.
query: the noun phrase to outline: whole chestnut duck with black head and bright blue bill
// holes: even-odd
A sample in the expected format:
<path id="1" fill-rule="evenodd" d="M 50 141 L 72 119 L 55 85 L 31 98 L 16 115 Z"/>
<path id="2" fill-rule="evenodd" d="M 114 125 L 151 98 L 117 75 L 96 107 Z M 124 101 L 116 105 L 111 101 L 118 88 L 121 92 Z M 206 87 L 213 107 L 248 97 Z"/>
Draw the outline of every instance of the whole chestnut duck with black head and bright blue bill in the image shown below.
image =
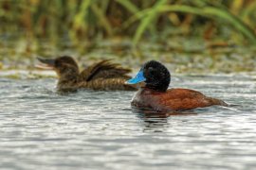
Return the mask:
<path id="1" fill-rule="evenodd" d="M 146 62 L 137 76 L 126 82 L 127 84 L 141 84 L 131 105 L 139 109 L 160 112 L 192 110 L 212 105 L 228 106 L 222 100 L 190 89 L 168 89 L 170 82 L 170 72 L 163 64 L 155 60 Z"/>

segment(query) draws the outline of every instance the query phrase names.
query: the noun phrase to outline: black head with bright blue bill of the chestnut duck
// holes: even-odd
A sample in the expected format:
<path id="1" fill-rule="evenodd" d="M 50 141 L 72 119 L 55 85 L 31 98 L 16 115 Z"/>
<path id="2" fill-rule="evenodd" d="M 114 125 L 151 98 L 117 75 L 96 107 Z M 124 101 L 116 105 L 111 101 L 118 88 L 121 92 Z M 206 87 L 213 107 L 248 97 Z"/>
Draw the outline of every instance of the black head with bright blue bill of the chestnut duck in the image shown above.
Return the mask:
<path id="1" fill-rule="evenodd" d="M 165 92 L 171 81 L 168 69 L 160 62 L 150 60 L 137 73 L 137 76 L 128 80 L 128 84 L 145 82 L 146 87 L 159 92 Z"/>

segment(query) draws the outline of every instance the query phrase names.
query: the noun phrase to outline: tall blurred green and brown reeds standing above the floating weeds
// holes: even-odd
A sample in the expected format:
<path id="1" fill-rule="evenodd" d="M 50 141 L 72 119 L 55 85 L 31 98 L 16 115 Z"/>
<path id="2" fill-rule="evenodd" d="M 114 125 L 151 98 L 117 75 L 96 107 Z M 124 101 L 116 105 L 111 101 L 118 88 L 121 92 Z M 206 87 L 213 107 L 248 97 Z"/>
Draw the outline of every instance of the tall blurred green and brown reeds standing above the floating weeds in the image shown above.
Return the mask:
<path id="1" fill-rule="evenodd" d="M 254 0 L 1 0 L 1 34 L 72 42 L 182 34 L 256 43 Z M 165 37 L 166 38 L 166 37 Z"/>

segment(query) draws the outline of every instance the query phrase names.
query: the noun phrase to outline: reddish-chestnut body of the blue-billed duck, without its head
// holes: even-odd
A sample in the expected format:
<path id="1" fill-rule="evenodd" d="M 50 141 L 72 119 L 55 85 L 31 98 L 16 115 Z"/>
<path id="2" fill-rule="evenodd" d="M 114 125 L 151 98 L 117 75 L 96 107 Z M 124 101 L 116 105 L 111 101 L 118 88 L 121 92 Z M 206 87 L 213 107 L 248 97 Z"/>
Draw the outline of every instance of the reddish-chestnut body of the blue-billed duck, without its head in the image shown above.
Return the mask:
<path id="1" fill-rule="evenodd" d="M 169 89 L 161 93 L 150 89 L 141 89 L 132 101 L 138 108 L 150 108 L 159 111 L 192 110 L 212 105 L 227 106 L 219 99 L 190 89 Z"/>

